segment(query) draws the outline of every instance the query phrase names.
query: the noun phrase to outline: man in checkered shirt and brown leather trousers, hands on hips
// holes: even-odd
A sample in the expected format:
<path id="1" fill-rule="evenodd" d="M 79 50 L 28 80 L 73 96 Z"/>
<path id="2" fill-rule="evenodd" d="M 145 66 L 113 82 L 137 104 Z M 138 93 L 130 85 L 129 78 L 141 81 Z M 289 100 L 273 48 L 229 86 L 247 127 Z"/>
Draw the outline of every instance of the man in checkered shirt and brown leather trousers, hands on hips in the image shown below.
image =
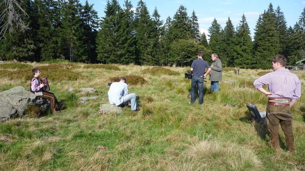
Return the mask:
<path id="1" fill-rule="evenodd" d="M 290 108 L 301 96 L 301 82 L 295 74 L 285 69 L 284 55 L 277 55 L 271 61 L 274 72 L 261 76 L 254 81 L 253 85 L 268 97 L 266 122 L 270 132 L 271 147 L 276 150 L 280 147 L 279 125 L 281 125 L 288 150 L 294 152 Z M 265 84 L 268 84 L 268 91 L 262 87 Z"/>

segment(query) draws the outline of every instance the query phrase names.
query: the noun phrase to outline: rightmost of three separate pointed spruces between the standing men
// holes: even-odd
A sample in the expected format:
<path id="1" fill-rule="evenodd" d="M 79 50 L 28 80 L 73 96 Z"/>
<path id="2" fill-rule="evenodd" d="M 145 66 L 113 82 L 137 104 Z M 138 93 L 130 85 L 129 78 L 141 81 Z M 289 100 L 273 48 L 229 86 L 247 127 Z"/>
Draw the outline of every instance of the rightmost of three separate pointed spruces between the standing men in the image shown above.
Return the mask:
<path id="1" fill-rule="evenodd" d="M 238 68 L 255 68 L 252 60 L 253 43 L 250 36 L 249 25 L 245 14 L 242 14 L 241 21 L 236 32 L 236 55 L 233 65 Z"/>

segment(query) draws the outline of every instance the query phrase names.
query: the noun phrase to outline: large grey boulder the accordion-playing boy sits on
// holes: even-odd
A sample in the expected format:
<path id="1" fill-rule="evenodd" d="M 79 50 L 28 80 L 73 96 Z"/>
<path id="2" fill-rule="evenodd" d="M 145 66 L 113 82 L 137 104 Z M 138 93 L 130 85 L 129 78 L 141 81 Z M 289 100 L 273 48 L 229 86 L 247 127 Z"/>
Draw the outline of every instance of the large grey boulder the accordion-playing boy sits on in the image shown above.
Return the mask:
<path id="1" fill-rule="evenodd" d="M 29 104 L 41 108 L 42 112 L 50 106 L 48 100 L 26 91 L 22 86 L 0 92 L 0 99 L 0 121 L 23 116 Z"/>

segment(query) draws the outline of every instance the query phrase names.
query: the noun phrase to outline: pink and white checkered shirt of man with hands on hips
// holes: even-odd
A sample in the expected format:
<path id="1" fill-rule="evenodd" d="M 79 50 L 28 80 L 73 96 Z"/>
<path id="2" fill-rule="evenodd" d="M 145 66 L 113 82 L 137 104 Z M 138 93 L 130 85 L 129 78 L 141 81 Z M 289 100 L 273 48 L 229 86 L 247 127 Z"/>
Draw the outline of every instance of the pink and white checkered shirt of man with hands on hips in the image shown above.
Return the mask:
<path id="1" fill-rule="evenodd" d="M 301 96 L 301 82 L 299 78 L 288 69 L 279 68 L 274 72 L 265 74 L 255 80 L 256 89 L 268 84 L 268 91 L 273 92 L 270 97 L 286 97 L 298 100 Z"/>

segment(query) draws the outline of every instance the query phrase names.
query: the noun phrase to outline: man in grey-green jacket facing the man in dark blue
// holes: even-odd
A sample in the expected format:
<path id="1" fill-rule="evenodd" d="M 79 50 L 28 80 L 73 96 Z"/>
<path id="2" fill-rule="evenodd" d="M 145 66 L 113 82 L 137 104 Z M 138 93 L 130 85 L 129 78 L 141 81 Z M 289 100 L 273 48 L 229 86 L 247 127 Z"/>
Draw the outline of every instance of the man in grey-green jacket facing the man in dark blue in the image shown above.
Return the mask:
<path id="1" fill-rule="evenodd" d="M 213 60 L 213 63 L 211 65 L 212 70 L 210 72 L 210 78 L 209 78 L 209 80 L 211 81 L 211 90 L 212 92 L 218 92 L 219 91 L 218 82 L 221 81 L 222 79 L 222 63 L 216 53 L 213 53 L 211 55 L 211 58 Z"/>

